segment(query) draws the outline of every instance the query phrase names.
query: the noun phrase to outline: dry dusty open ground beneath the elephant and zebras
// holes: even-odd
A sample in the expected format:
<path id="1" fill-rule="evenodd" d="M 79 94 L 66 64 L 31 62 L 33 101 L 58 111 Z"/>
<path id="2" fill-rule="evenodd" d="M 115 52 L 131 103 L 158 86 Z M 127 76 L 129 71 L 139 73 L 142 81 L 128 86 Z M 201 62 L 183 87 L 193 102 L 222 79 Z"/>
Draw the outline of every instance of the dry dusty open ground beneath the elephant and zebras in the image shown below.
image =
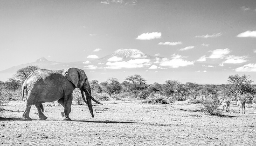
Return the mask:
<path id="1" fill-rule="evenodd" d="M 89 109 L 73 102 L 69 115 L 57 102 L 44 103 L 46 121 L 21 121 L 24 102 L 12 101 L 0 118 L 0 146 L 255 146 L 256 105 L 238 114 L 231 102 L 228 116 L 212 116 L 187 102 L 142 104 L 139 100 L 100 101 Z"/>

